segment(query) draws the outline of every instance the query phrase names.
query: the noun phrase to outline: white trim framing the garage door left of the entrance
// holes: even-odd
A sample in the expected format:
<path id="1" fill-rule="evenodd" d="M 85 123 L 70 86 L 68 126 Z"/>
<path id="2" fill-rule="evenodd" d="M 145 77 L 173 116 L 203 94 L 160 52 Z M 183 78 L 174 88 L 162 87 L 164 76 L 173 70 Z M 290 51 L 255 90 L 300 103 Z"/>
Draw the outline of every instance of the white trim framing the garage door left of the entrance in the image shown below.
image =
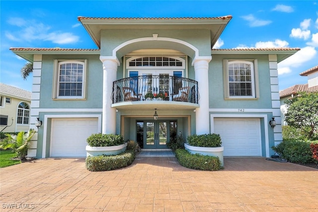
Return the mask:
<path id="1" fill-rule="evenodd" d="M 97 118 L 98 119 L 98 132 L 101 132 L 101 114 L 65 114 L 65 115 L 44 115 L 43 120 L 43 146 L 42 146 L 42 158 L 45 158 L 46 152 L 46 137 L 48 132 L 48 119 L 52 118 Z"/>

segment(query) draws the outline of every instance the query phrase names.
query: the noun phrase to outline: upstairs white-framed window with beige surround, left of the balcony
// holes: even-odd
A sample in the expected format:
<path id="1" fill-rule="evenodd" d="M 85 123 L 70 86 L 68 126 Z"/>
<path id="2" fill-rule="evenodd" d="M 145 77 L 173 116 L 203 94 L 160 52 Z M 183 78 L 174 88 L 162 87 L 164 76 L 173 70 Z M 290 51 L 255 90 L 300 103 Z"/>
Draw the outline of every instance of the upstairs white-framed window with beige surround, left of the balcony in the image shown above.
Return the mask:
<path id="1" fill-rule="evenodd" d="M 86 60 L 55 60 L 54 99 L 86 98 Z"/>

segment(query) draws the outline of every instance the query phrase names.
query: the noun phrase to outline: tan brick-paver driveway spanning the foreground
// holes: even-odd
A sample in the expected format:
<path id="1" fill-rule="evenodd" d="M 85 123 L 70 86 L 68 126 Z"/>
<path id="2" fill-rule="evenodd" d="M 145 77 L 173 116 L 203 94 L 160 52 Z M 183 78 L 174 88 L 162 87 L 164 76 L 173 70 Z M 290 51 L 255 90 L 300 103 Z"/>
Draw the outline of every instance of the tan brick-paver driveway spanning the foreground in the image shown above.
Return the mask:
<path id="1" fill-rule="evenodd" d="M 208 172 L 174 157 L 137 157 L 90 172 L 83 158 L 39 159 L 0 169 L 0 211 L 318 211 L 317 169 L 262 157 L 224 161 L 224 170 Z"/>

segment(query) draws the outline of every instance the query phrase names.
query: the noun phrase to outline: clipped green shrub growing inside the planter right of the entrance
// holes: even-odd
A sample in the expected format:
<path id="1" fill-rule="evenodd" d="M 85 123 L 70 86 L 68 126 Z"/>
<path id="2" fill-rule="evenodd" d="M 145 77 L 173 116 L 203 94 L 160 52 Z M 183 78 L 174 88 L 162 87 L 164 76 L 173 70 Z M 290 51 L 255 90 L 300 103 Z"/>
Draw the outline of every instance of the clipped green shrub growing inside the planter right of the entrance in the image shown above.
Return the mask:
<path id="1" fill-rule="evenodd" d="M 220 147 L 222 144 L 219 134 L 192 135 L 187 138 L 189 145 L 202 147 Z"/>

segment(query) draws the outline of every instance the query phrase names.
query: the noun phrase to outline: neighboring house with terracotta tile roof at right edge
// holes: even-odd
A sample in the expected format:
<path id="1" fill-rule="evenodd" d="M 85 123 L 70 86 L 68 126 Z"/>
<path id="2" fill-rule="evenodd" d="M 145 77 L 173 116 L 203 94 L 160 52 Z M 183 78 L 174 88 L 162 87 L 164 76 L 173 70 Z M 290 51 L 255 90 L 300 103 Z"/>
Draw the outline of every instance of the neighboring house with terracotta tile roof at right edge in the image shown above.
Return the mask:
<path id="1" fill-rule="evenodd" d="M 286 99 L 293 98 L 299 91 L 318 92 L 318 66 L 301 72 L 299 75 L 307 76 L 308 83 L 293 85 L 279 92 L 282 125 L 287 125 L 285 121 L 285 113 L 287 113 Z"/>

